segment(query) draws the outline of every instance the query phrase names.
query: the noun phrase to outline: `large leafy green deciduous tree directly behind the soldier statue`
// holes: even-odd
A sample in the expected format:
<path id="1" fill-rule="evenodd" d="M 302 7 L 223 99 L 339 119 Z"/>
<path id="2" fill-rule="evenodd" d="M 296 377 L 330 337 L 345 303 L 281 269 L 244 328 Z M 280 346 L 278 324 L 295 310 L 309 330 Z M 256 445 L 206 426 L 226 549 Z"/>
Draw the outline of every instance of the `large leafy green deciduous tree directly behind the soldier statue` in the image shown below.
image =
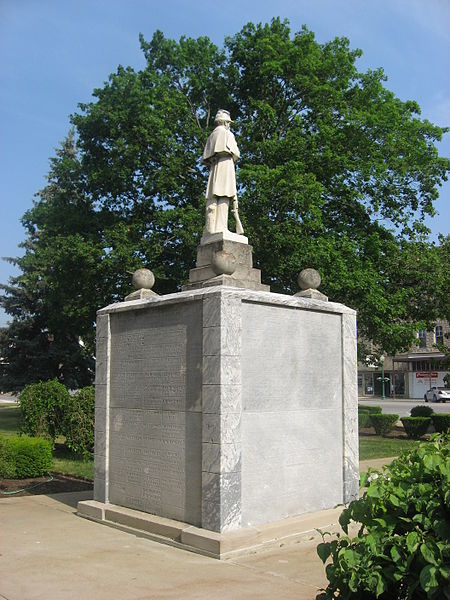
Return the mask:
<path id="1" fill-rule="evenodd" d="M 51 285 L 36 314 L 92 348 L 95 310 L 128 291 L 127 271 L 149 266 L 156 291 L 179 289 L 204 222 L 199 157 L 227 108 L 242 220 L 273 291 L 292 293 L 300 269 L 318 269 L 323 291 L 356 308 L 359 331 L 389 353 L 447 316 L 443 252 L 423 226 L 449 170 L 435 147 L 445 130 L 396 98 L 381 69 L 361 73 L 345 38 L 319 44 L 279 19 L 246 25 L 223 49 L 161 32 L 141 46 L 146 67 L 119 67 L 73 115 L 72 162 L 53 164 L 67 181 L 25 215 L 24 274 L 7 298 L 39 265 Z"/>

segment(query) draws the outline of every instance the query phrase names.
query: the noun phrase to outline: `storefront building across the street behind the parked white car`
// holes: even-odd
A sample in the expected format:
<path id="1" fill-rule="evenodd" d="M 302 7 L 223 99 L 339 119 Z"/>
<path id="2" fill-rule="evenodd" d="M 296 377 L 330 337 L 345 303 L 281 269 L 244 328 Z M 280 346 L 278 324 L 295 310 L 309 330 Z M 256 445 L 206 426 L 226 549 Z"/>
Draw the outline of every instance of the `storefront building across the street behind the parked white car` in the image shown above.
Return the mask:
<path id="1" fill-rule="evenodd" d="M 387 356 L 384 360 L 386 397 L 422 399 L 432 386 L 444 386 L 449 373 L 445 354 L 436 344 L 450 346 L 450 325 L 438 321 L 433 331 L 417 332 L 417 344 L 409 352 Z M 383 370 L 380 365 L 358 365 L 358 395 L 382 396 Z"/>

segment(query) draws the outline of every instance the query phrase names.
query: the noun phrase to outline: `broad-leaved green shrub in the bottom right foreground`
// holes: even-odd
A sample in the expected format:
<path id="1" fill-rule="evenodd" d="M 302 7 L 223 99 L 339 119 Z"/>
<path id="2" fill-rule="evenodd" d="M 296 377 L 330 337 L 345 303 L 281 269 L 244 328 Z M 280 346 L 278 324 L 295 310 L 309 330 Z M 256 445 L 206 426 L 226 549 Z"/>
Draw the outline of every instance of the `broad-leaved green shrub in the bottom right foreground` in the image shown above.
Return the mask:
<path id="1" fill-rule="evenodd" d="M 364 496 L 343 511 L 345 534 L 319 544 L 328 587 L 318 598 L 450 598 L 450 436 L 436 436 L 369 470 Z"/>

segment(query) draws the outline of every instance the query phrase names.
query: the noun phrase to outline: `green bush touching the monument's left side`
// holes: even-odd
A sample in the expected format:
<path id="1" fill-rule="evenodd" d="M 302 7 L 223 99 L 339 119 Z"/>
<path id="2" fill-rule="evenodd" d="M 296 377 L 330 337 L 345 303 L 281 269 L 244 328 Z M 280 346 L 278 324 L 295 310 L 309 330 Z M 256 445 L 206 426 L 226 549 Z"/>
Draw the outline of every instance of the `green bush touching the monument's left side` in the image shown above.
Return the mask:
<path id="1" fill-rule="evenodd" d="M 63 422 L 66 446 L 75 454 L 94 450 L 95 389 L 88 386 L 70 397 Z"/>

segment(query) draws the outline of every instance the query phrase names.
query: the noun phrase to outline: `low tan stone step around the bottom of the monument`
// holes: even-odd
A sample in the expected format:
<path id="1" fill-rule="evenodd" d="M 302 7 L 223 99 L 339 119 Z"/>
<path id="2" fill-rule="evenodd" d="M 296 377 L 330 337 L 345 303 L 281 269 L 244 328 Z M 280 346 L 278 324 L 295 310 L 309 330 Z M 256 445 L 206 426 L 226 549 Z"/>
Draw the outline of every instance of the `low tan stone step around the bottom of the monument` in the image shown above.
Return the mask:
<path id="1" fill-rule="evenodd" d="M 77 507 L 77 513 L 81 517 L 219 560 L 287 542 L 306 541 L 317 533 L 317 529 L 340 528 L 338 519 L 341 512 L 342 506 L 229 533 L 216 533 L 189 523 L 96 500 L 84 500 Z"/>

